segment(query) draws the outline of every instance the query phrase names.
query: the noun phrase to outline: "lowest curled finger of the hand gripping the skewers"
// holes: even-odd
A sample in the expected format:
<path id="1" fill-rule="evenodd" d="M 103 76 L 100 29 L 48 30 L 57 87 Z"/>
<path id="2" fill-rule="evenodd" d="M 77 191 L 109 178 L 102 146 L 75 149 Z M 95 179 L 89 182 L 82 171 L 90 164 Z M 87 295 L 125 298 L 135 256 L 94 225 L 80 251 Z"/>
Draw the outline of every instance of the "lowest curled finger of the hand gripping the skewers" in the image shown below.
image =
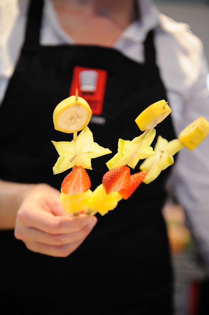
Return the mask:
<path id="1" fill-rule="evenodd" d="M 66 245 L 60 245 L 60 246 L 52 246 L 52 245 L 46 245 L 41 243 L 33 243 L 33 242 L 27 242 L 25 243 L 26 247 L 30 250 L 32 250 L 35 253 L 54 256 L 54 257 L 67 257 L 71 253 L 74 252 L 75 249 L 77 249 L 81 243 L 83 243 L 85 238 L 80 239 L 79 241 L 66 244 Z"/>

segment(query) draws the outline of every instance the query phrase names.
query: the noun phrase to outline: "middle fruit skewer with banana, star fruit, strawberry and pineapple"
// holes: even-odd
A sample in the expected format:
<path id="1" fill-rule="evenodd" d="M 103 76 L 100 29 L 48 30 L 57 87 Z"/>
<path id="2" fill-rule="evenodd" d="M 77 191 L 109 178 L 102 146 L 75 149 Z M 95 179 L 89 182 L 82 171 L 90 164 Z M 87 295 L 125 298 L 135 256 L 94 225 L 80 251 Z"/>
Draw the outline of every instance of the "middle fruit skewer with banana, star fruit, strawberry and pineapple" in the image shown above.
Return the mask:
<path id="1" fill-rule="evenodd" d="M 87 213 L 94 215 L 98 211 L 105 215 L 113 210 L 122 198 L 128 199 L 146 178 L 146 170 L 130 175 L 129 167 L 134 169 L 140 159 L 155 155 L 150 146 L 156 135 L 154 127 L 170 112 L 168 103 L 160 100 L 148 106 L 136 118 L 140 129 L 145 132 L 132 141 L 119 139 L 118 153 L 106 163 L 109 171 L 103 176 L 102 184 L 93 192 Z"/>

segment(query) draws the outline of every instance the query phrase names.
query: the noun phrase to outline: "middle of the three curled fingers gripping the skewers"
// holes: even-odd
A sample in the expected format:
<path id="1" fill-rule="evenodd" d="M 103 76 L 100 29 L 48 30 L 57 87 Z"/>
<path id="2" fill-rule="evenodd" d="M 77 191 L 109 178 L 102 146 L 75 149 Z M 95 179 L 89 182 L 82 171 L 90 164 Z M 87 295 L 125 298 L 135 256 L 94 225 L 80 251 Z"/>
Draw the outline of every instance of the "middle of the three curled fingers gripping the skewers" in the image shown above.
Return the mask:
<path id="1" fill-rule="evenodd" d="M 21 231 L 21 239 L 24 243 L 42 243 L 52 246 L 62 246 L 85 239 L 92 231 L 95 224 L 96 220 L 86 225 L 79 232 L 55 235 L 48 234 L 34 228 L 24 227 Z"/>

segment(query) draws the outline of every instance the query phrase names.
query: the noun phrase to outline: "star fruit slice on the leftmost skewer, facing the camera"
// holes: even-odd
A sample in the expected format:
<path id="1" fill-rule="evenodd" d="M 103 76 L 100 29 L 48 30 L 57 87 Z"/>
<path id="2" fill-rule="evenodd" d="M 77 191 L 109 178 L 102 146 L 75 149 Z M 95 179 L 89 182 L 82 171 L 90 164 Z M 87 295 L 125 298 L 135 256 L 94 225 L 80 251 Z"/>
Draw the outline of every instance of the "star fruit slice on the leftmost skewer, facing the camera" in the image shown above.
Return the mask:
<path id="1" fill-rule="evenodd" d="M 88 127 L 85 127 L 77 139 L 71 142 L 52 141 L 52 143 L 59 154 L 58 160 L 53 167 L 54 174 L 62 173 L 73 166 L 92 169 L 92 158 L 112 153 L 109 149 L 105 149 L 94 142 L 92 132 Z"/>

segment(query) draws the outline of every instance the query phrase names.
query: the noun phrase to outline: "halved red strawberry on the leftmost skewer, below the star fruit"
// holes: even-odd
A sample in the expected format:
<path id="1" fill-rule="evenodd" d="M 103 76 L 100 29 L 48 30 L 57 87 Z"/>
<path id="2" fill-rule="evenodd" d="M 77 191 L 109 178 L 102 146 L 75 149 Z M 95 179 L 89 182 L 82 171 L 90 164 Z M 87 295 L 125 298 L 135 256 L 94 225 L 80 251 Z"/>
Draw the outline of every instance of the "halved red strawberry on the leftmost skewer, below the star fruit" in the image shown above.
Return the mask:
<path id="1" fill-rule="evenodd" d="M 86 192 L 91 187 L 89 175 L 82 166 L 76 166 L 63 180 L 61 190 L 73 196 Z"/>

